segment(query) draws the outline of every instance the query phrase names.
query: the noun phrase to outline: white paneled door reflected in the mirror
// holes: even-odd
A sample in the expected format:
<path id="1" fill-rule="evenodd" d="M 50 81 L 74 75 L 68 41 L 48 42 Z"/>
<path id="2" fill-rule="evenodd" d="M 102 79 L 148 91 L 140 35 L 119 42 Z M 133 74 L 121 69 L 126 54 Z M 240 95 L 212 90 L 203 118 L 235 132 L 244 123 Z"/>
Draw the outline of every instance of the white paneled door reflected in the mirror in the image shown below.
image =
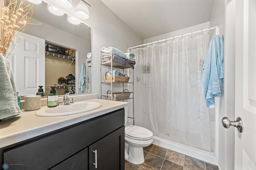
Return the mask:
<path id="1" fill-rule="evenodd" d="M 16 89 L 19 95 L 36 95 L 38 86 L 44 86 L 45 82 L 45 40 L 20 32 L 14 40 L 18 45 L 10 45 L 7 59 L 14 72 Z"/>

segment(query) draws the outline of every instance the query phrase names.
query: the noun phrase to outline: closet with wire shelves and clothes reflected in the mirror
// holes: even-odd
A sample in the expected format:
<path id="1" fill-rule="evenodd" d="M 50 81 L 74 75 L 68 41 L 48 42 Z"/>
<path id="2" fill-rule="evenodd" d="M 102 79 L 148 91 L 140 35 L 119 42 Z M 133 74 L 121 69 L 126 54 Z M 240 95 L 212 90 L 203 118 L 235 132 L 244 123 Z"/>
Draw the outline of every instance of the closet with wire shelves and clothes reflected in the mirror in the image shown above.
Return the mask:
<path id="1" fill-rule="evenodd" d="M 45 91 L 55 86 L 58 95 L 76 94 L 76 50 L 46 42 Z"/>

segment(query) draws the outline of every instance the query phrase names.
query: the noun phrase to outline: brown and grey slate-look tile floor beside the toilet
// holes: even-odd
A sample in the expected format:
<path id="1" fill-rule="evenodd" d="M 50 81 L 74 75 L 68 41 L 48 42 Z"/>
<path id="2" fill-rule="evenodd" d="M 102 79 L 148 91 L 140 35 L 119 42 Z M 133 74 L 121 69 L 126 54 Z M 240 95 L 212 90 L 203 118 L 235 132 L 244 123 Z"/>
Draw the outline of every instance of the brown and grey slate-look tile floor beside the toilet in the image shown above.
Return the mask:
<path id="1" fill-rule="evenodd" d="M 143 148 L 144 163 L 125 160 L 125 170 L 218 170 L 218 166 L 151 144 Z"/>

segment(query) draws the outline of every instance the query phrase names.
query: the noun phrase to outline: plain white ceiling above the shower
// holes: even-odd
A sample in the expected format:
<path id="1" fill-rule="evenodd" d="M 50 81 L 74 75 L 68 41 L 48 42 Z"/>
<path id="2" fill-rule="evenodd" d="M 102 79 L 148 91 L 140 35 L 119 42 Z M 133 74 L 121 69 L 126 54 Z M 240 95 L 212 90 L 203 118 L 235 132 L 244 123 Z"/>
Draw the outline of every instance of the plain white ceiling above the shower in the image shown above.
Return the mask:
<path id="1" fill-rule="evenodd" d="M 215 0 L 101 0 L 142 39 L 210 21 Z"/>

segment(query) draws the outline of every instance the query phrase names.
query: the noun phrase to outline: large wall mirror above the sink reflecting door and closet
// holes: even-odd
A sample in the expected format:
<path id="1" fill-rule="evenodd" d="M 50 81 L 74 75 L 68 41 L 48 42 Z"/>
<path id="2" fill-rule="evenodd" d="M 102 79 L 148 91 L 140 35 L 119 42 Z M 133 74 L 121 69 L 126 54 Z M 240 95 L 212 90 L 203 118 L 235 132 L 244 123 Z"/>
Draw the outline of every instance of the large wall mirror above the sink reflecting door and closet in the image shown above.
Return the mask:
<path id="1" fill-rule="evenodd" d="M 69 23 L 66 14 L 54 15 L 48 11 L 48 4 L 42 2 L 34 4 L 30 23 L 21 36 L 22 41 L 8 57 L 20 95 L 36 95 L 38 86 L 44 86 L 45 95 L 51 86 L 56 86 L 59 95 L 91 93 L 91 59 L 87 57 L 91 52 L 90 27 Z M 48 44 L 63 47 L 65 54 L 49 53 Z M 87 78 L 83 91 L 79 88 L 80 76 Z M 61 77 L 73 80 L 66 82 Z"/>

